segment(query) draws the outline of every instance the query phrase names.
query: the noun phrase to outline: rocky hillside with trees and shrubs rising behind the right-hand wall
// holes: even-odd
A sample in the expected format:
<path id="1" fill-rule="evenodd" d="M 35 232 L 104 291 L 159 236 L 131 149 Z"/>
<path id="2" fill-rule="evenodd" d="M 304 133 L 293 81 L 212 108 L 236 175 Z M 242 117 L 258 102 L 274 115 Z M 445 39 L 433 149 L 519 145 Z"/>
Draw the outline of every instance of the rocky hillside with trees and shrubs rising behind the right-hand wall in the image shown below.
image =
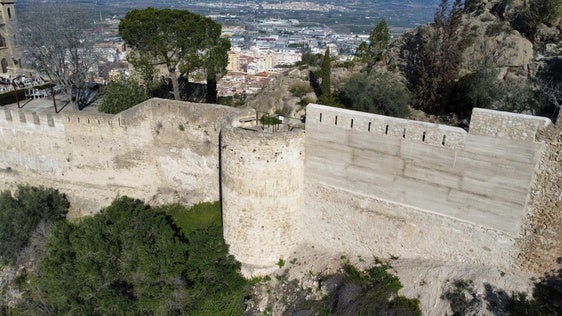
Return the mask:
<path id="1" fill-rule="evenodd" d="M 298 116 L 315 102 L 464 127 L 474 107 L 555 120 L 562 102 L 561 17 L 560 0 L 443 0 L 432 23 L 397 39 L 381 21 L 353 60 L 332 56 L 327 67 L 325 56 L 304 55 L 299 72 L 288 73 L 292 80 L 272 81 L 249 104 Z M 308 81 L 312 92 L 291 92 L 297 81 Z"/>

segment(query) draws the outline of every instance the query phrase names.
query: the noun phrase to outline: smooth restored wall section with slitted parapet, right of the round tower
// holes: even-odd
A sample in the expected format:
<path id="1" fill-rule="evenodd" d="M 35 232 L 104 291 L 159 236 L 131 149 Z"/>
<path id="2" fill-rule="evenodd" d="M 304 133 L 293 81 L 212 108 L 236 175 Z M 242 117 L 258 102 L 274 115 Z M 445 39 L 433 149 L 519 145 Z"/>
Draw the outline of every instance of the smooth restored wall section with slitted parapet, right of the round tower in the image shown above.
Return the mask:
<path id="1" fill-rule="evenodd" d="M 309 105 L 304 225 L 318 230 L 306 238 L 340 251 L 478 262 L 500 251 L 507 258 L 497 263 L 510 265 L 544 146 L 529 135 L 546 121 L 507 116 L 476 109 L 474 135 Z M 485 127 L 514 118 L 513 130 Z"/>

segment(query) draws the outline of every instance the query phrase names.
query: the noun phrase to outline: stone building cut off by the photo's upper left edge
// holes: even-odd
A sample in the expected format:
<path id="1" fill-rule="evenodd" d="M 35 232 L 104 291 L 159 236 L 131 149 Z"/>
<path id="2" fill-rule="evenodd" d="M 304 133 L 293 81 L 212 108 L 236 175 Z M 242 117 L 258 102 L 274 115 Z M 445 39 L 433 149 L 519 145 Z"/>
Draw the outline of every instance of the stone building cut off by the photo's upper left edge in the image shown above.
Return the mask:
<path id="1" fill-rule="evenodd" d="M 16 50 L 15 2 L 15 0 L 0 0 L 0 75 L 15 74 L 20 63 Z"/>

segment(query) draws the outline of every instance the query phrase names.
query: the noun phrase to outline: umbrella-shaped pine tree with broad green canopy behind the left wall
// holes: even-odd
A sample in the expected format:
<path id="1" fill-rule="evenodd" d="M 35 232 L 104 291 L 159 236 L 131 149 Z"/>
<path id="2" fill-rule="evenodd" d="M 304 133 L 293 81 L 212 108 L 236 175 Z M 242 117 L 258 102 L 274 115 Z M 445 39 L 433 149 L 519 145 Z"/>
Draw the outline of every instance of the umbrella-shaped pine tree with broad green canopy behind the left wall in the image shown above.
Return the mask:
<path id="1" fill-rule="evenodd" d="M 166 67 L 176 100 L 180 99 L 179 76 L 202 68 L 213 86 L 226 69 L 230 43 L 220 38 L 220 24 L 187 10 L 129 11 L 119 23 L 119 34 L 133 49 L 128 58 L 135 67 Z"/>

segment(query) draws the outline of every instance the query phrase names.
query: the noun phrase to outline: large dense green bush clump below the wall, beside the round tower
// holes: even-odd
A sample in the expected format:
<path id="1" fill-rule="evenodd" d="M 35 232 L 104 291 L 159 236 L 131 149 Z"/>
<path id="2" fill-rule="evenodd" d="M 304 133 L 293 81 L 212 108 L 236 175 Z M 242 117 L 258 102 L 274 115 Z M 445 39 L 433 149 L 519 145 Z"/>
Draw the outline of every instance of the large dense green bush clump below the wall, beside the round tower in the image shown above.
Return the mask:
<path id="1" fill-rule="evenodd" d="M 60 223 L 40 262 L 40 297 L 64 314 L 241 314 L 245 280 L 228 256 L 218 204 L 188 213 L 123 197 Z"/>

